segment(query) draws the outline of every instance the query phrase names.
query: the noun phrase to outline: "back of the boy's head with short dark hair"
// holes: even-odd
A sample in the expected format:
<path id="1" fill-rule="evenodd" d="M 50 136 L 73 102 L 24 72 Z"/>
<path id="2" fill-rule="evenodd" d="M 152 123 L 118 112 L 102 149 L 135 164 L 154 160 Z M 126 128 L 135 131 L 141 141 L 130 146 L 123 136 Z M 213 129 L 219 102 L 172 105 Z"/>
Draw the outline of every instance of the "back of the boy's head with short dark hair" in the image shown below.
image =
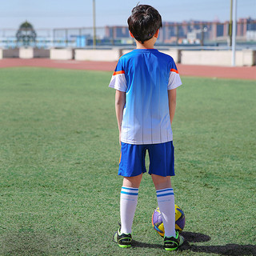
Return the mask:
<path id="1" fill-rule="evenodd" d="M 153 38 L 157 30 L 162 27 L 162 17 L 158 10 L 147 5 L 134 7 L 127 22 L 131 34 L 142 44 Z"/>

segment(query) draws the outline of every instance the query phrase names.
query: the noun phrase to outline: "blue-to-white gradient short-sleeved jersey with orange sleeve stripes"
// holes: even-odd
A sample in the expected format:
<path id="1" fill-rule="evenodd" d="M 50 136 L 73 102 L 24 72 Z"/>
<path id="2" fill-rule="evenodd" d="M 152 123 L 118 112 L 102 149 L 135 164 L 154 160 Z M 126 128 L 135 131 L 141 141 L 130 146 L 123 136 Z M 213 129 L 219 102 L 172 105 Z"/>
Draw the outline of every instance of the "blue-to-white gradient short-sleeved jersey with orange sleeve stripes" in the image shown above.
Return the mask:
<path id="1" fill-rule="evenodd" d="M 181 85 L 174 59 L 156 49 L 136 49 L 119 58 L 110 87 L 126 92 L 121 141 L 172 141 L 168 90 Z"/>

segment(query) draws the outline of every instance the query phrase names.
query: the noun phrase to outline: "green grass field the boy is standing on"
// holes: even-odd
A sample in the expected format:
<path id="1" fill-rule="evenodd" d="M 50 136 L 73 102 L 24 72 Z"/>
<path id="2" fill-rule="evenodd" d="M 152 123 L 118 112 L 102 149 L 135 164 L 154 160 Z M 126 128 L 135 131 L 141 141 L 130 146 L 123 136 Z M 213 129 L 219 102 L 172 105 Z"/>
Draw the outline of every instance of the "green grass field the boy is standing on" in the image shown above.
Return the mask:
<path id="1" fill-rule="evenodd" d="M 166 255 L 144 174 L 134 246 L 118 228 L 118 127 L 110 72 L 0 70 L 0 255 Z M 174 255 L 256 255 L 255 81 L 187 78 L 174 118 Z"/>

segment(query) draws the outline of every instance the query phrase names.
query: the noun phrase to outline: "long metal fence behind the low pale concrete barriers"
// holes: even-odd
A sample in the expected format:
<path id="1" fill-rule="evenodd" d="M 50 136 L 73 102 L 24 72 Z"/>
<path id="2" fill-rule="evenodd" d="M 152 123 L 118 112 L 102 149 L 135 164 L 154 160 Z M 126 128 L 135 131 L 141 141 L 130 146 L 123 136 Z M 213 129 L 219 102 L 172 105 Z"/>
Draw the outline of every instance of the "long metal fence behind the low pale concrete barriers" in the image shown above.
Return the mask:
<path id="1" fill-rule="evenodd" d="M 230 22 L 164 22 L 157 44 L 159 46 L 230 46 Z M 17 48 L 17 30 L 0 30 L 0 47 Z M 40 29 L 36 30 L 32 47 L 71 47 L 86 48 L 112 46 L 132 46 L 127 26 L 97 27 L 94 37 L 93 27 Z M 94 41 L 94 38 L 96 39 Z M 256 20 L 243 19 L 237 22 L 236 40 L 246 48 L 256 48 Z"/>

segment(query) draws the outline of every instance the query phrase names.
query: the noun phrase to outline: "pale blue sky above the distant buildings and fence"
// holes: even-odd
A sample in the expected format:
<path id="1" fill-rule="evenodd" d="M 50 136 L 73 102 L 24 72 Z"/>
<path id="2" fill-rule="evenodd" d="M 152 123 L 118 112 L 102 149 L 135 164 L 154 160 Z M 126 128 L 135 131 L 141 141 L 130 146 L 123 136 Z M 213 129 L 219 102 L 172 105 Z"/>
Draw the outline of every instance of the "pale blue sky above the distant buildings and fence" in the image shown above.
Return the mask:
<path id="1" fill-rule="evenodd" d="M 96 26 L 126 26 L 138 4 L 154 6 L 164 22 L 230 19 L 230 0 L 95 0 Z M 26 20 L 35 29 L 93 26 L 93 0 L 0 0 L 0 29 L 18 29 Z M 237 17 L 256 19 L 256 0 L 237 0 Z"/>

